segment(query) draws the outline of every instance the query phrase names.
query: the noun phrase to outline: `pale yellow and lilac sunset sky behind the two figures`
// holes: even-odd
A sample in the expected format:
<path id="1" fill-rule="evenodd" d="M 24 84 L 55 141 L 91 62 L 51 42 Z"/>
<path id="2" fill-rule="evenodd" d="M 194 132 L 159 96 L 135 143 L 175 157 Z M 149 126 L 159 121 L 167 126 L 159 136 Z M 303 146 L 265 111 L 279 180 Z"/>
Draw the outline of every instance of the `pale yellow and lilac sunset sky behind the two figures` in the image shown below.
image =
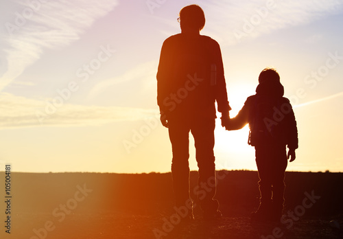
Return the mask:
<path id="1" fill-rule="evenodd" d="M 287 170 L 342 172 L 342 0 L 2 1 L 0 171 L 169 172 L 156 71 L 192 3 L 206 16 L 201 34 L 221 46 L 230 115 L 276 68 L 298 122 Z M 247 126 L 218 120 L 215 140 L 217 169 L 257 170 Z"/>

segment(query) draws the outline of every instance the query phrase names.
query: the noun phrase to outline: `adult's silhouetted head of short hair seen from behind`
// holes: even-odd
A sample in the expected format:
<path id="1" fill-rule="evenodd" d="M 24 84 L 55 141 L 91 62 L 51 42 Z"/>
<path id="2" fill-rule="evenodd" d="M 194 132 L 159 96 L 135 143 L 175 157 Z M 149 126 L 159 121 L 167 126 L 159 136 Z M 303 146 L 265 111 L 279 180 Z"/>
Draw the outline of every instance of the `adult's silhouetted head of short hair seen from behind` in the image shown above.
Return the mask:
<path id="1" fill-rule="evenodd" d="M 205 25 L 205 14 L 199 5 L 187 5 L 179 13 L 181 25 L 196 30 L 202 30 Z"/>

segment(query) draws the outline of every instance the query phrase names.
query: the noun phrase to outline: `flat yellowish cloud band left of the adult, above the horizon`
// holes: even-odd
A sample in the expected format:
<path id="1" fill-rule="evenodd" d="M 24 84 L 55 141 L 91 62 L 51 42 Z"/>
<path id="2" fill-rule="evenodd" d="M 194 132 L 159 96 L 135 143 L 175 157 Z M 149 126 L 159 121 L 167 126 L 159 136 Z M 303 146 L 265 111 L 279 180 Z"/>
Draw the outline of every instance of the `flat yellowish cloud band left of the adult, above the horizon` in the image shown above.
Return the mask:
<path id="1" fill-rule="evenodd" d="M 0 128 L 96 126 L 110 122 L 144 120 L 158 115 L 155 109 L 75 104 L 56 107 L 51 102 L 0 93 Z"/>

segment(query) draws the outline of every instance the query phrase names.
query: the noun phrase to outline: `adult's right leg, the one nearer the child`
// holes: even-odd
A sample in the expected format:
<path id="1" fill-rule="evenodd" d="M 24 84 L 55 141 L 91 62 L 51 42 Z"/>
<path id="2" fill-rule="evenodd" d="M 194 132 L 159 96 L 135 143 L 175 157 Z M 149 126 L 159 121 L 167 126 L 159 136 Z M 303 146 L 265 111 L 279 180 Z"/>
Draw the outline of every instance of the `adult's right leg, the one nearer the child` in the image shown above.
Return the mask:
<path id="1" fill-rule="evenodd" d="M 202 194 L 198 195 L 200 207 L 204 215 L 215 214 L 219 207 L 215 196 L 215 156 L 213 147 L 215 144 L 214 137 L 215 118 L 197 117 L 192 120 L 191 133 L 194 137 L 196 146 L 196 160 L 199 168 L 198 186 Z"/>

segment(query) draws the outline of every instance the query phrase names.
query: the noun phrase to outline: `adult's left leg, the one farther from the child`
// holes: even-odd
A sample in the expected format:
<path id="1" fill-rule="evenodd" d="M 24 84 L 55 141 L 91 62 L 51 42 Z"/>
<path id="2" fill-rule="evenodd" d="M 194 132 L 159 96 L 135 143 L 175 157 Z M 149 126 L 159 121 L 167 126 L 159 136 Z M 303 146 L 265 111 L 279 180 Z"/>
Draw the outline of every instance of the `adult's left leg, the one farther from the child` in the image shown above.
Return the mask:
<path id="1" fill-rule="evenodd" d="M 182 120 L 169 120 L 169 139 L 173 152 L 171 174 L 176 206 L 185 205 L 189 194 L 189 126 Z"/>

